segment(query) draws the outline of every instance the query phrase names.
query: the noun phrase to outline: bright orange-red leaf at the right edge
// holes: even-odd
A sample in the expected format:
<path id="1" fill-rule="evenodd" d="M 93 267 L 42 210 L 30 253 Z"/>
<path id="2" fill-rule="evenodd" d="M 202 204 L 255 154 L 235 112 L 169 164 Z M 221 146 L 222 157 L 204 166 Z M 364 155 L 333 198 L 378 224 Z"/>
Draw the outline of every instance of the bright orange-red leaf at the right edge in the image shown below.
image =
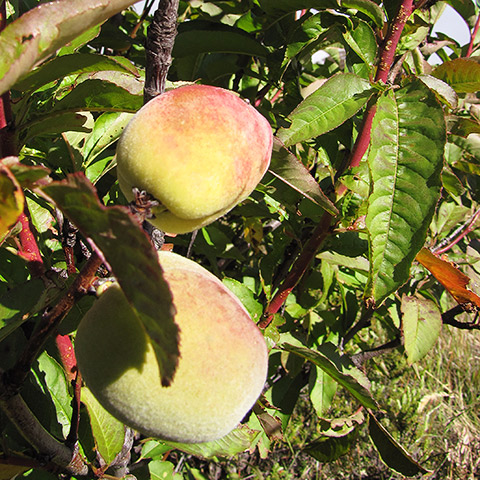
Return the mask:
<path id="1" fill-rule="evenodd" d="M 420 250 L 416 259 L 430 270 L 459 304 L 472 311 L 480 309 L 480 297 L 467 288 L 470 279 L 451 262 L 442 260 L 426 248 Z"/>

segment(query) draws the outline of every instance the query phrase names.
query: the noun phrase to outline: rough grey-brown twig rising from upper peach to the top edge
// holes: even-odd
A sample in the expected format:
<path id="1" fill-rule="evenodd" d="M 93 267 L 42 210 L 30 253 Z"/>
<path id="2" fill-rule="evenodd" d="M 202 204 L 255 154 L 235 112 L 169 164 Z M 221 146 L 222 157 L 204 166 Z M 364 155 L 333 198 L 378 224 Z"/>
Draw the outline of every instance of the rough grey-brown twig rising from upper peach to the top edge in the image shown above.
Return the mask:
<path id="1" fill-rule="evenodd" d="M 145 68 L 144 103 L 165 91 L 172 49 L 177 34 L 179 0 L 163 0 L 148 27 Z"/>

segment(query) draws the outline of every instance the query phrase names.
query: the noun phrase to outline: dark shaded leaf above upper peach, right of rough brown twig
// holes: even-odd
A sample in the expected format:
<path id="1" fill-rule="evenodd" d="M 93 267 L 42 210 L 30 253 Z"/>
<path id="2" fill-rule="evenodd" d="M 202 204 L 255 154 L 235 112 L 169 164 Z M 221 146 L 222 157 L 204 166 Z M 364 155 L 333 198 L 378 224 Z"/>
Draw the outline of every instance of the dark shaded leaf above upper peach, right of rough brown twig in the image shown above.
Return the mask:
<path id="1" fill-rule="evenodd" d="M 268 50 L 245 30 L 223 23 L 191 20 L 179 25 L 172 51 L 174 58 L 211 52 L 265 57 Z"/>

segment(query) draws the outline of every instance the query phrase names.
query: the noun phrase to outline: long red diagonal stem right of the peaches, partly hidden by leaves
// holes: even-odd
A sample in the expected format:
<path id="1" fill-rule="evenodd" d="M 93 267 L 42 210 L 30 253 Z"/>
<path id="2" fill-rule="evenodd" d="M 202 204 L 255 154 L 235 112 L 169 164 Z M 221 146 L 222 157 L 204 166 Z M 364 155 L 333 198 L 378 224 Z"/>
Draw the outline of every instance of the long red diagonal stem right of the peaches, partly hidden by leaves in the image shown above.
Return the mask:
<path id="1" fill-rule="evenodd" d="M 413 0 L 402 1 L 397 15 L 390 24 L 385 41 L 380 49 L 378 69 L 375 76 L 376 82 L 387 82 L 388 74 L 395 58 L 395 51 L 397 49 L 398 41 L 402 35 L 405 23 L 414 10 L 415 6 Z M 375 99 L 373 99 L 371 102 L 369 102 L 367 110 L 365 111 L 362 127 L 350 157 L 350 167 L 359 165 L 364 153 L 367 151 L 367 148 L 370 144 L 370 134 L 373 117 L 375 116 L 375 110 L 376 104 Z M 285 277 L 270 304 L 265 309 L 264 316 L 258 324 L 260 328 L 266 328 L 270 324 L 275 313 L 280 310 L 290 292 L 295 288 L 302 276 L 305 274 L 310 263 L 315 258 L 318 249 L 330 234 L 332 220 L 333 217 L 329 213 L 325 212 L 320 220 L 320 223 L 313 231 L 312 236 L 307 241 L 300 252 L 300 255 L 295 260 L 292 269 Z"/>

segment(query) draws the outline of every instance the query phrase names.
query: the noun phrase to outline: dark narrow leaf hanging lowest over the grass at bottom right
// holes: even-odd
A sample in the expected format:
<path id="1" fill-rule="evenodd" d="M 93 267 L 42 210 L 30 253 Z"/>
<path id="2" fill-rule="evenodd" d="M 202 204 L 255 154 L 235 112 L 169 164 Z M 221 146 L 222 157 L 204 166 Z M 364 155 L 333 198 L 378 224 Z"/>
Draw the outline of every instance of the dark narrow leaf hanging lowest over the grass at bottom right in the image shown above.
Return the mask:
<path id="1" fill-rule="evenodd" d="M 413 477 L 420 473 L 431 473 L 411 457 L 372 413 L 370 413 L 368 431 L 380 457 L 390 468 L 407 477 Z"/>

